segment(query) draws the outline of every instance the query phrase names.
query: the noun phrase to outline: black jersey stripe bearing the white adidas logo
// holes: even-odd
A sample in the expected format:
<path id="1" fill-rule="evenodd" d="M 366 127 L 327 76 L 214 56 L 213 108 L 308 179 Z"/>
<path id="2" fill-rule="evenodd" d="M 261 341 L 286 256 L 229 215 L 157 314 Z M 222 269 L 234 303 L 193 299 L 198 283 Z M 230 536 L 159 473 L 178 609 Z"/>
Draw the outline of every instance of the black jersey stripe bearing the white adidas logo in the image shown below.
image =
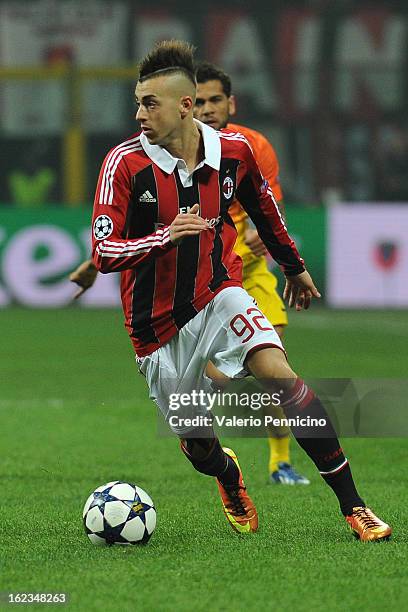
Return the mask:
<path id="1" fill-rule="evenodd" d="M 132 177 L 132 197 L 126 219 L 127 238 L 142 238 L 156 231 L 158 216 L 157 185 L 153 166 Z M 132 336 L 144 343 L 158 342 L 152 325 L 156 260 L 147 259 L 135 269 L 132 289 Z"/>

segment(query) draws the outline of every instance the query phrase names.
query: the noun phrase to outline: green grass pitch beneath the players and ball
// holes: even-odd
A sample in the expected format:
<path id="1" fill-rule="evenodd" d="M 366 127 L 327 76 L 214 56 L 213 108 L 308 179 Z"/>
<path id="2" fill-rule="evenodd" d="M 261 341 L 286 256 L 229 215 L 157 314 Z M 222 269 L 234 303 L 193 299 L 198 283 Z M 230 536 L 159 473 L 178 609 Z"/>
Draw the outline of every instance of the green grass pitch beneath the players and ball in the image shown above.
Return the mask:
<path id="1" fill-rule="evenodd" d="M 295 442 L 310 487 L 267 484 L 266 440 L 224 439 L 260 514 L 259 532 L 238 536 L 213 480 L 157 436 L 121 313 L 11 309 L 1 319 L 0 591 L 64 591 L 72 610 L 406 609 L 405 440 L 344 441 L 363 497 L 394 527 L 390 542 L 370 545 L 350 535 Z M 286 346 L 302 375 L 404 377 L 407 322 L 404 312 L 293 313 Z M 148 546 L 86 538 L 83 503 L 112 479 L 155 501 Z"/>

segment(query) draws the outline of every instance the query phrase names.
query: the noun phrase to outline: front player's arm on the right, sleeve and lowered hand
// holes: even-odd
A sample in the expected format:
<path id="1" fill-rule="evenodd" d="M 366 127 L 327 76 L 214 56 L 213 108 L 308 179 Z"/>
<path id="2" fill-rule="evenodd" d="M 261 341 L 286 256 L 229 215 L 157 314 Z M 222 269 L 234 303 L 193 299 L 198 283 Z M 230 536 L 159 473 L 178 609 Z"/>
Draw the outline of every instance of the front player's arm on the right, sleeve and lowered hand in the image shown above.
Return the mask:
<path id="1" fill-rule="evenodd" d="M 286 276 L 284 298 L 288 300 L 289 307 L 296 306 L 297 310 L 308 308 L 311 298 L 320 297 L 320 293 L 305 270 L 294 241 L 288 235 L 274 194 L 268 181 L 263 178 L 251 148 L 248 144 L 243 147 L 236 196 Z"/>

